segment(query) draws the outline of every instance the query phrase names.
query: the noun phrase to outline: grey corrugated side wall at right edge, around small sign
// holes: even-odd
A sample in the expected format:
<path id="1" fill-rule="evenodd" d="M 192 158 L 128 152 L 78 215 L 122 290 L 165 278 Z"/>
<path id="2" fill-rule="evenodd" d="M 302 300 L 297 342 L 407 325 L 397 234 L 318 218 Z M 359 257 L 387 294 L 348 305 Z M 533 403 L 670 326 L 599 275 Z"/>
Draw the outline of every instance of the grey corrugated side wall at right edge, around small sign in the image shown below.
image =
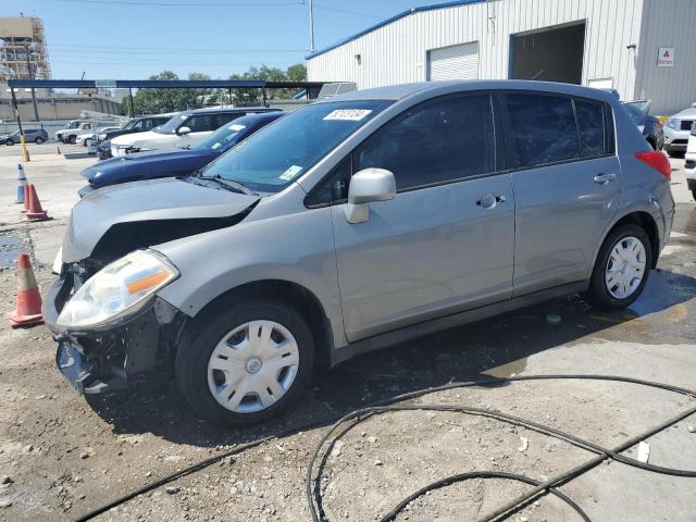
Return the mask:
<path id="1" fill-rule="evenodd" d="M 661 47 L 674 66 L 658 67 Z M 654 114 L 674 114 L 696 102 L 696 1 L 648 0 L 638 44 L 636 98 L 651 98 Z"/>

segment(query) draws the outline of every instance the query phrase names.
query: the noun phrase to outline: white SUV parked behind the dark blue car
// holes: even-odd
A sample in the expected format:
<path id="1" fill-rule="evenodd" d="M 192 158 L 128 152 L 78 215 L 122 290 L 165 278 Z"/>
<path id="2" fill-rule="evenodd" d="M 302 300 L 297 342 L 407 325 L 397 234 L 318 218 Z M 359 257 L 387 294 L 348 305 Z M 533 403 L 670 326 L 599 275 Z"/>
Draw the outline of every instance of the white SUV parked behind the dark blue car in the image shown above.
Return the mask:
<path id="1" fill-rule="evenodd" d="M 111 140 L 111 154 L 123 157 L 146 150 L 174 149 L 191 146 L 210 136 L 213 130 L 246 114 L 276 111 L 263 107 L 236 109 L 196 109 L 173 116 L 164 125 L 152 130 L 117 136 Z"/>

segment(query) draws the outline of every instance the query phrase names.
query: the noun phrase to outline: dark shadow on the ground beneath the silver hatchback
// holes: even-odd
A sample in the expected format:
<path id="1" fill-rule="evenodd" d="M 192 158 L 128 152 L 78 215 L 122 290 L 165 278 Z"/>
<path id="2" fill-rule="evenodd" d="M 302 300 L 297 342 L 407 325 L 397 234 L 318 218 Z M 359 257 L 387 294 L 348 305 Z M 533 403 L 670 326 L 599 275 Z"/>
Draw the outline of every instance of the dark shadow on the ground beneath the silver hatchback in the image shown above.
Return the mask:
<path id="1" fill-rule="evenodd" d="M 535 353 L 602 332 L 609 340 L 668 343 L 669 331 L 647 327 L 641 320 L 678 309 L 676 304 L 683 307 L 694 296 L 695 277 L 658 269 L 651 272 L 644 295 L 626 310 L 600 312 L 574 295 L 443 331 L 320 373 L 312 390 L 287 413 L 239 430 L 198 420 L 179 395 L 171 372 L 162 372 L 158 378 L 126 391 L 91 397 L 88 401 L 116 434 L 152 433 L 172 443 L 198 447 L 240 444 L 308 424 L 330 423 L 348 411 L 398 394 L 450 381 L 517 374 Z M 560 323 L 552 324 L 548 314 L 559 315 Z M 679 338 L 678 332 L 674 338 Z"/>

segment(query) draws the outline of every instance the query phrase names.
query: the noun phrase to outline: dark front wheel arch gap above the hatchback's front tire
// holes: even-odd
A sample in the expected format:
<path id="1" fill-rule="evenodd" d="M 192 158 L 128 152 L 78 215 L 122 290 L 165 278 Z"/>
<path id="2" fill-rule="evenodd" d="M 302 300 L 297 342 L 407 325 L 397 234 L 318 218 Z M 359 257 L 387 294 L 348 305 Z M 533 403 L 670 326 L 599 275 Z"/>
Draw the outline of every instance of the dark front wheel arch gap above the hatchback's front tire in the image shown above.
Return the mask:
<path id="1" fill-rule="evenodd" d="M 286 279 L 260 279 L 244 283 L 231 288 L 201 308 L 192 321 L 204 318 L 207 314 L 224 307 L 233 299 L 249 298 L 281 299 L 286 304 L 295 307 L 307 320 L 314 340 L 314 368 L 327 369 L 332 364 L 332 349 L 334 346 L 332 326 L 326 311 L 319 298 L 304 286 Z M 176 349 L 176 347 L 175 347 Z"/>

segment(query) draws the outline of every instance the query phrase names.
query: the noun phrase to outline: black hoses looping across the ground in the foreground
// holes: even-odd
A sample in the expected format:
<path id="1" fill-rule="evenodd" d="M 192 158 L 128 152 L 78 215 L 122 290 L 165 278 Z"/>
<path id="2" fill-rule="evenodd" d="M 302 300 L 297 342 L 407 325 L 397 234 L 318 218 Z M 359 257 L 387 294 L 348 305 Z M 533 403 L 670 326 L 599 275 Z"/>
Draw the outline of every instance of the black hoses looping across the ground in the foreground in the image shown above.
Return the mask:
<path id="1" fill-rule="evenodd" d="M 386 412 L 390 412 L 390 411 L 405 411 L 405 410 L 435 410 L 435 411 L 448 411 L 448 412 L 459 412 L 459 413 L 465 413 L 465 414 L 472 414 L 472 415 L 481 415 L 481 417 L 487 417 L 487 418 L 492 418 L 492 419 L 497 419 L 499 421 L 502 422 L 507 422 L 510 424 L 514 424 L 514 425 L 519 425 L 519 426 L 524 426 L 527 427 L 530 430 L 536 431 L 538 433 L 543 433 L 549 436 L 555 436 L 558 438 L 562 438 L 568 440 L 569 443 L 585 449 L 587 451 L 592 451 L 594 453 L 597 453 L 597 457 L 595 457 L 592 461 L 585 463 L 585 464 L 581 464 L 580 467 L 574 468 L 573 470 L 571 470 L 570 472 L 563 473 L 561 475 L 558 475 L 557 477 L 554 477 L 545 483 L 539 483 L 538 481 L 535 481 L 533 478 L 523 476 L 523 475 L 515 475 L 515 474 L 509 474 L 509 473 L 501 473 L 501 472 L 488 472 L 488 471 L 482 471 L 482 472 L 471 472 L 471 473 L 462 473 L 462 474 L 458 474 L 451 477 L 447 477 L 447 478 L 443 478 L 440 481 L 437 481 L 433 484 L 430 484 L 421 489 L 419 489 L 419 492 L 413 493 L 412 495 L 410 495 L 407 499 L 402 500 L 401 502 L 399 502 L 399 505 L 394 508 L 390 513 L 383 518 L 383 521 L 388 521 L 388 520 L 394 520 L 395 517 L 398 515 L 398 513 L 406 508 L 406 506 L 409 505 L 409 502 L 411 502 L 412 500 L 414 500 L 415 498 L 418 498 L 419 496 L 425 494 L 428 490 L 432 489 L 437 489 L 440 487 L 445 487 L 448 486 L 450 484 L 453 484 L 456 482 L 462 482 L 465 480 L 471 480 L 471 478 L 509 478 L 509 480 L 514 480 L 518 482 L 524 482 L 526 484 L 530 485 L 534 485 L 535 487 L 525 493 L 524 495 L 518 497 L 517 499 L 514 499 L 511 502 L 506 504 L 506 506 L 497 509 L 494 513 L 492 513 L 490 515 L 486 517 L 483 520 L 501 520 L 502 518 L 507 518 L 511 512 L 514 512 L 515 509 L 519 509 L 519 507 L 524 506 L 525 502 L 531 501 L 531 499 L 544 494 L 545 492 L 549 492 L 552 495 L 557 496 L 558 498 L 560 498 L 561 500 L 563 500 L 566 504 L 568 504 L 571 508 L 573 508 L 573 510 L 575 512 L 577 512 L 577 514 L 585 521 L 588 521 L 589 519 L 587 518 L 586 513 L 584 513 L 584 511 L 580 508 L 580 506 L 577 506 L 572 499 L 568 498 L 566 495 L 563 495 L 562 493 L 558 492 L 557 489 L 555 489 L 555 486 L 561 485 L 567 483 L 568 481 L 574 478 L 575 476 L 580 476 L 582 473 L 585 473 L 588 469 L 594 468 L 595 465 L 597 465 L 598 463 L 600 463 L 601 461 L 606 460 L 606 459 L 612 459 L 616 460 L 617 462 L 622 462 L 624 464 L 627 465 L 633 465 L 635 468 L 639 468 L 646 471 L 651 471 L 651 472 L 656 472 L 656 473 L 663 473 L 663 474 L 670 474 L 670 475 L 676 475 L 676 476 L 687 476 L 687 477 L 694 477 L 696 476 L 696 471 L 688 471 L 688 470 L 676 470 L 676 469 L 671 469 L 671 468 L 662 468 L 662 467 L 657 467 L 657 465 L 652 465 L 652 464 L 647 464 L 647 463 L 643 463 L 639 462 L 635 459 L 631 459 L 627 457 L 624 457 L 622 455 L 619 455 L 620 451 L 623 451 L 627 448 L 630 448 L 631 446 L 634 446 L 635 444 L 637 444 L 639 440 L 647 438 L 651 435 L 654 435 L 655 433 L 658 433 L 662 430 L 664 430 L 666 427 L 668 427 L 669 425 L 674 424 L 675 422 L 679 422 L 682 419 L 685 419 L 694 413 L 696 413 L 696 407 L 692 408 L 689 410 L 686 410 L 685 412 L 682 412 L 680 415 L 678 415 L 676 418 L 670 419 L 670 421 L 668 421 L 667 423 L 660 424 L 657 427 L 651 428 L 650 431 L 641 434 L 638 437 L 634 437 L 631 440 L 629 440 L 627 443 L 622 444 L 620 447 L 618 448 L 613 448 L 613 449 L 608 449 L 608 448 L 602 448 L 599 445 L 596 445 L 592 442 L 588 440 L 584 440 L 580 437 L 575 437 L 573 435 L 567 434 L 564 432 L 561 432 L 559 430 L 555 430 L 548 426 L 545 426 L 543 424 L 538 424 L 535 423 L 533 421 L 527 421 L 524 419 L 520 419 L 520 418 L 515 418 L 512 415 L 508 415 L 505 413 L 500 413 L 497 411 L 493 411 L 493 410 L 487 410 L 487 409 L 483 409 L 483 408 L 469 408 L 469 407 L 453 407 L 453 406 L 422 406 L 422 405 L 417 405 L 417 406 L 390 406 L 390 405 L 395 405 L 396 402 L 401 402 L 405 400 L 409 400 L 409 399 L 414 399 L 418 397 L 422 397 L 424 395 L 427 394 L 432 394 L 432 393 L 437 393 L 437 391 L 444 391 L 444 390 L 448 390 L 448 389 L 455 389 L 455 388 L 462 388 L 462 387 L 471 387 L 471 386 L 502 386 L 502 385 L 507 385 L 507 384 L 511 384 L 511 383 L 515 383 L 515 382 L 524 382 L 524 381 L 547 381 L 547 380 L 592 380 L 592 381 L 610 381 L 610 382 L 622 382 L 622 383 L 630 383 L 630 384 L 637 384 L 637 385 L 643 385 L 643 386 L 650 386 L 654 388 L 659 388 L 659 389 L 663 389 L 667 391 L 672 391 L 672 393 L 676 393 L 676 394 L 681 394 L 681 395 L 686 395 L 686 396 L 691 396 L 693 398 L 696 398 L 696 391 L 687 389 L 687 388 L 682 388 L 679 386 L 673 386 L 670 384 L 662 384 L 662 383 L 656 383 L 656 382 L 650 382 L 650 381 L 644 381 L 644 380 L 639 380 L 639 378 L 632 378 L 632 377 L 623 377 L 623 376 L 617 376 L 617 375 L 583 375 L 583 374 L 573 374 L 573 375 L 519 375 L 519 376 L 514 376 L 514 377 L 507 377 L 507 378 L 498 378 L 498 377 L 490 377 L 490 378 L 482 378 L 482 380 L 476 380 L 476 381 L 469 381 L 469 382 L 463 382 L 463 383 L 450 383 L 450 384 L 446 384 L 443 386 L 435 386 L 435 387 L 428 387 L 428 388 L 423 388 L 420 390 L 415 390 L 415 391 L 411 391 L 411 393 L 407 393 L 407 394 L 402 394 L 402 395 L 398 395 L 396 397 L 391 397 L 388 399 L 384 399 L 377 402 L 372 403 L 371 406 L 366 407 L 366 408 L 361 408 L 359 410 L 355 410 L 346 415 L 343 415 L 340 418 L 332 418 L 332 419 L 325 419 L 324 421 L 319 421 L 319 422 L 313 422 L 310 424 L 304 424 L 302 426 L 299 427 L 295 427 L 295 428 L 290 428 L 287 430 L 278 435 L 273 435 L 273 436 L 266 436 L 266 437 L 262 437 L 259 438 L 257 440 L 253 440 L 251 443 L 247 443 L 247 444 L 241 444 L 239 446 L 236 446 L 235 448 L 215 455 L 213 457 L 210 457 L 208 459 L 204 459 L 196 464 L 192 464 L 188 468 L 184 468 L 179 471 L 176 471 L 174 473 L 171 473 L 169 475 L 162 476 L 156 481 L 152 481 L 149 484 L 146 484 L 137 489 L 134 489 L 130 493 L 127 493 L 99 508 L 94 509 L 92 511 L 89 511 L 88 513 L 82 515 L 80 518 L 76 519 L 76 522 L 86 522 L 88 520 L 94 519 L 95 517 L 98 517 L 99 514 L 102 514 L 113 508 L 115 508 L 116 506 L 120 506 L 124 502 L 127 502 L 128 500 L 132 500 L 133 498 L 142 495 L 145 493 L 148 493 L 152 489 L 156 489 L 160 486 L 163 486 L 164 484 L 167 484 L 170 482 L 173 482 L 177 478 L 181 478 L 183 476 L 186 476 L 190 473 L 194 473 L 196 471 L 202 470 L 211 464 L 214 464 L 215 462 L 219 462 L 220 460 L 226 458 L 226 457 L 232 457 L 234 455 L 238 455 L 243 451 L 246 451 L 247 449 L 257 447 L 268 440 L 272 440 L 275 438 L 284 438 L 284 437 L 288 437 L 291 435 L 296 435 L 299 432 L 302 431 L 307 431 L 307 430 L 311 430 L 314 427 L 320 427 L 323 426 L 330 422 L 334 422 L 333 425 L 328 428 L 328 431 L 326 432 L 326 434 L 319 440 L 318 445 L 314 448 L 314 451 L 312 452 L 309 461 L 308 461 L 308 470 L 307 470 L 307 476 L 306 476 L 306 497 L 307 497 L 307 501 L 309 505 L 309 509 L 310 512 L 312 514 L 312 520 L 314 522 L 326 522 L 326 518 L 324 517 L 324 512 L 323 512 L 323 508 L 322 508 L 322 500 L 321 500 L 321 492 L 320 492 L 320 480 L 319 476 L 321 476 L 321 467 L 319 469 L 319 473 L 318 473 L 318 477 L 314 478 L 313 477 L 313 469 L 314 469 L 314 464 L 316 462 L 316 458 L 320 455 L 320 451 L 322 449 L 322 447 L 326 444 L 326 442 L 330 439 L 330 437 L 332 436 L 332 434 L 334 432 L 336 432 L 336 430 L 338 428 L 338 426 L 340 426 L 341 424 L 346 423 L 347 421 L 352 420 L 353 422 L 345 427 L 334 439 L 332 439 L 332 442 L 330 443 L 330 445 L 327 446 L 326 450 L 324 451 L 324 457 L 322 459 L 322 467 L 324 465 L 326 458 L 328 456 L 328 453 L 331 452 L 331 449 L 333 448 L 334 444 L 336 443 L 336 440 L 338 440 L 338 438 L 340 436 L 343 436 L 344 434 L 346 434 L 347 432 L 349 432 L 352 427 L 355 427 L 357 424 L 359 424 L 360 422 L 363 422 L 365 419 L 374 415 L 374 414 L 382 414 L 382 413 L 386 413 Z M 505 476 L 504 476 L 505 475 Z M 313 486 L 313 484 L 315 483 L 315 486 Z M 316 504 L 315 504 L 316 501 Z"/>

